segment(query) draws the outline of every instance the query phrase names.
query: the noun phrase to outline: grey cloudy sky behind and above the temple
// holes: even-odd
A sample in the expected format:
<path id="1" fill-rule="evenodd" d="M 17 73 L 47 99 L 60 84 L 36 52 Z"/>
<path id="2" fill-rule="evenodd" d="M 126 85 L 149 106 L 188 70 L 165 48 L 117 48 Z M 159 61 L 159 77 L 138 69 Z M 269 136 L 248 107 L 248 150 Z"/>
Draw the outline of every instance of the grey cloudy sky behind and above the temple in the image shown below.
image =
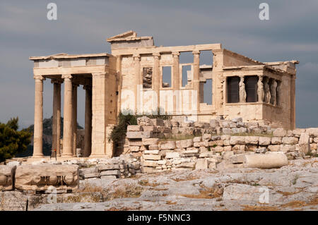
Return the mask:
<path id="1" fill-rule="evenodd" d="M 47 20 L 47 4 L 57 20 Z M 259 4 L 270 20 L 259 20 Z M 135 30 L 155 45 L 222 43 L 258 61 L 300 61 L 296 125 L 318 127 L 318 1 L 0 1 L 0 121 L 33 124 L 33 63 L 29 56 L 110 52 L 105 39 Z M 52 84 L 44 83 L 44 117 L 52 116 Z M 63 93 L 63 92 L 62 92 Z M 78 90 L 84 123 L 85 92 Z"/>

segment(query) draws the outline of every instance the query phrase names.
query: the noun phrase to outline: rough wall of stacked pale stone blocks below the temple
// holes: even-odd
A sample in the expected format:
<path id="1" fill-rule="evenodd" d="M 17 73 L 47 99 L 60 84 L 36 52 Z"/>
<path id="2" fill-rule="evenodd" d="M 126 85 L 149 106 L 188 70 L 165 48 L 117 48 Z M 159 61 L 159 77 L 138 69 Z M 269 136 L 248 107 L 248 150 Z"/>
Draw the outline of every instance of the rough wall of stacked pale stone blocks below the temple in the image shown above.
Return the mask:
<path id="1" fill-rule="evenodd" d="M 239 154 L 283 152 L 288 159 L 317 154 L 318 128 L 284 130 L 242 118 L 192 123 L 141 117 L 138 124 L 127 128 L 127 153 L 140 157 L 143 172 L 217 168 Z"/>

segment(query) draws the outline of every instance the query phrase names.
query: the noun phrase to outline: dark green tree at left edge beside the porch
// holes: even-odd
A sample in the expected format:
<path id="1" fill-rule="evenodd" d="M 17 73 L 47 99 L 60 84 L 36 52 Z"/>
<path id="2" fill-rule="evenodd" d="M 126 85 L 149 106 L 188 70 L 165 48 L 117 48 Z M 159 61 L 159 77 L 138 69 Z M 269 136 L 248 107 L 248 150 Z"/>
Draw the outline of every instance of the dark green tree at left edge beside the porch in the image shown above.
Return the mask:
<path id="1" fill-rule="evenodd" d="M 18 152 L 23 152 L 31 142 L 32 133 L 23 129 L 18 131 L 18 117 L 8 123 L 0 123 L 0 162 L 11 159 Z"/>

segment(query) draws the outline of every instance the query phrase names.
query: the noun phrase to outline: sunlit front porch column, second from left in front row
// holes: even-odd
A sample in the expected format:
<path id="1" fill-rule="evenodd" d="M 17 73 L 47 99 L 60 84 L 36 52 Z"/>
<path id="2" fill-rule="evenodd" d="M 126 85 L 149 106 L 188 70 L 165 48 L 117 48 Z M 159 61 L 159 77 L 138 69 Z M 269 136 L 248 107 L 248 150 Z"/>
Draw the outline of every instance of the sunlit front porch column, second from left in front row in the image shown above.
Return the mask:
<path id="1" fill-rule="evenodd" d="M 64 79 L 64 124 L 63 124 L 63 152 L 62 157 L 72 157 L 73 129 L 72 129 L 72 81 L 71 75 L 62 75 Z"/>

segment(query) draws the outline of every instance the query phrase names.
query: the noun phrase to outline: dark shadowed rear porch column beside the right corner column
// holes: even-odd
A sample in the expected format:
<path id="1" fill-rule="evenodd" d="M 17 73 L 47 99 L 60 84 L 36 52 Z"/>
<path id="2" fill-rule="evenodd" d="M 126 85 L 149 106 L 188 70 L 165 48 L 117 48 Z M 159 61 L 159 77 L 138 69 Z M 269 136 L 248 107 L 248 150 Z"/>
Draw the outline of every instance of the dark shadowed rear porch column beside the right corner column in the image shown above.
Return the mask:
<path id="1" fill-rule="evenodd" d="M 92 150 L 92 87 L 84 85 L 85 95 L 85 136 L 84 136 L 84 157 L 89 157 Z"/>

